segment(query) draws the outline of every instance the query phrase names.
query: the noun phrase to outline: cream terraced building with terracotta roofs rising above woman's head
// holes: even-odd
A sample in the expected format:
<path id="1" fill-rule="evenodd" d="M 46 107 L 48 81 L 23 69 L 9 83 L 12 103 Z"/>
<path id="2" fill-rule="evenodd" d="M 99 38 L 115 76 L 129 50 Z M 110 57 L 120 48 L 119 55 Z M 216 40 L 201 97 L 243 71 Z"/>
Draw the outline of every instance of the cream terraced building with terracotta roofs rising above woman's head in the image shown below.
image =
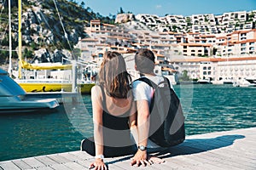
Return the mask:
<path id="1" fill-rule="evenodd" d="M 90 27 L 87 27 L 85 32 L 89 38 L 81 39 L 76 45 L 81 49 L 81 59 L 85 61 L 101 57 L 113 47 L 123 52 L 125 50 L 121 47 L 128 47 L 133 39 L 124 27 L 102 24 L 101 20 L 90 20 Z"/>

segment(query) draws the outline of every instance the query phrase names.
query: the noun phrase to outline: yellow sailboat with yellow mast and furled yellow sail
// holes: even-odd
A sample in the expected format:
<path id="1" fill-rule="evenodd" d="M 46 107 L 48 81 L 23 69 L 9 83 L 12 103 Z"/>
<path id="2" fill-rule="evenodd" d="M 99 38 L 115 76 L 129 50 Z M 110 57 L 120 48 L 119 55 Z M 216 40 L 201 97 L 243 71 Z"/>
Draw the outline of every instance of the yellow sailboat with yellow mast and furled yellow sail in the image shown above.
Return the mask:
<path id="1" fill-rule="evenodd" d="M 15 79 L 15 82 L 17 82 L 20 85 L 20 87 L 23 88 L 26 92 L 60 92 L 60 91 L 70 92 L 70 91 L 72 91 L 72 92 L 77 92 L 77 93 L 79 92 L 81 94 L 90 93 L 90 89 L 95 85 L 95 81 L 92 81 L 87 78 L 86 80 L 79 80 L 79 82 L 77 82 L 77 76 L 76 76 L 77 63 L 75 60 L 73 61 L 73 65 L 62 65 L 61 63 L 42 65 L 42 64 L 30 64 L 22 59 L 22 54 L 21 54 L 21 47 L 22 47 L 22 42 L 21 42 L 21 0 L 18 0 L 18 7 L 19 7 L 19 12 L 18 12 L 18 15 L 19 15 L 19 26 L 18 26 L 19 77 Z M 62 22 L 61 22 L 61 24 L 62 24 Z M 62 25 L 62 27 L 63 27 L 63 25 Z M 64 29 L 64 27 L 63 27 L 63 29 Z M 66 32 L 66 31 L 64 30 L 64 32 Z M 35 79 L 24 79 L 24 78 L 22 79 L 21 68 L 33 70 L 33 71 L 72 70 L 73 81 L 47 78 L 47 77 L 41 78 L 41 79 L 38 79 L 37 77 L 35 77 Z"/>

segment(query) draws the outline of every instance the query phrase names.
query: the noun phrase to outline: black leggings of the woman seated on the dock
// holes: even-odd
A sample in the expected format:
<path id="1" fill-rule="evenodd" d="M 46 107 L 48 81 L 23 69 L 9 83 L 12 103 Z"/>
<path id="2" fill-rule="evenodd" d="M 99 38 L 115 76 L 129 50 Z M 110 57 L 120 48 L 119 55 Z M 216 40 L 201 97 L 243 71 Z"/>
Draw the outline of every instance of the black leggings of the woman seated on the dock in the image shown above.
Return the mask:
<path id="1" fill-rule="evenodd" d="M 95 142 L 94 138 L 84 139 L 81 143 L 81 150 L 86 151 L 90 156 L 95 156 Z M 112 147 L 104 146 L 103 155 L 105 157 L 115 157 L 115 156 L 128 156 L 133 155 L 137 152 L 136 144 L 123 147 Z"/>

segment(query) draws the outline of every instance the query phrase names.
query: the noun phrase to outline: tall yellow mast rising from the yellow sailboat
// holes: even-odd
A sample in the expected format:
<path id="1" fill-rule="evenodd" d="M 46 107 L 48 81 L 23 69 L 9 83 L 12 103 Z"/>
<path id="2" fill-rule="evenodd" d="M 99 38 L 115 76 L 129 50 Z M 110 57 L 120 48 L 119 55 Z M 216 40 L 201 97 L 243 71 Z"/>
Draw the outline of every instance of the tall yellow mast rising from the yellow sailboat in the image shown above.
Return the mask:
<path id="1" fill-rule="evenodd" d="M 19 28 L 18 28 L 18 34 L 19 34 L 19 46 L 18 46 L 18 57 L 19 57 L 19 78 L 21 79 L 21 66 L 22 66 L 22 53 L 21 53 L 21 47 L 22 47 L 22 41 L 21 41 L 21 0 L 18 0 L 18 15 L 19 15 Z"/>

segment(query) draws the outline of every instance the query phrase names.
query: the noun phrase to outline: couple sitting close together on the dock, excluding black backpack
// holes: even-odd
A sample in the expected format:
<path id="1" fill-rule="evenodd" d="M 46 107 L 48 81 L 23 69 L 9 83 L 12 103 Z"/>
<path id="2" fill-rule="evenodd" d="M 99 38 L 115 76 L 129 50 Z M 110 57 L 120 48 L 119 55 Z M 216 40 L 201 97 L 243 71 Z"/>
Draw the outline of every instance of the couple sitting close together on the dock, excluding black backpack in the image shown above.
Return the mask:
<path id="1" fill-rule="evenodd" d="M 163 77 L 154 75 L 152 51 L 139 49 L 135 67 L 141 77 L 148 77 L 156 84 L 163 81 Z M 135 166 L 163 162 L 148 155 L 148 147 L 159 147 L 148 139 L 149 105 L 153 94 L 153 88 L 145 82 L 135 81 L 131 86 L 121 54 L 107 52 L 103 55 L 99 85 L 91 89 L 94 137 L 84 139 L 81 144 L 81 150 L 95 156 L 90 167 L 107 169 L 104 156 L 134 155 L 131 165 Z"/>

